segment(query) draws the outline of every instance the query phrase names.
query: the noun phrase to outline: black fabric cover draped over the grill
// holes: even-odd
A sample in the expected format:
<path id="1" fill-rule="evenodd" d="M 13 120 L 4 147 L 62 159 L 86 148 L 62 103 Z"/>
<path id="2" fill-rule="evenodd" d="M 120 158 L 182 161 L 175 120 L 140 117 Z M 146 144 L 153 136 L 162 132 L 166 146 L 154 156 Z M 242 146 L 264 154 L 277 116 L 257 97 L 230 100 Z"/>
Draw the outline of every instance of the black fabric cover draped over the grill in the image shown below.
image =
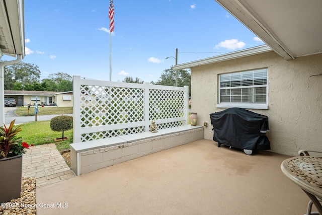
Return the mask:
<path id="1" fill-rule="evenodd" d="M 229 108 L 210 114 L 213 140 L 226 146 L 246 150 L 270 150 L 266 136 L 268 116 L 242 108 Z"/>

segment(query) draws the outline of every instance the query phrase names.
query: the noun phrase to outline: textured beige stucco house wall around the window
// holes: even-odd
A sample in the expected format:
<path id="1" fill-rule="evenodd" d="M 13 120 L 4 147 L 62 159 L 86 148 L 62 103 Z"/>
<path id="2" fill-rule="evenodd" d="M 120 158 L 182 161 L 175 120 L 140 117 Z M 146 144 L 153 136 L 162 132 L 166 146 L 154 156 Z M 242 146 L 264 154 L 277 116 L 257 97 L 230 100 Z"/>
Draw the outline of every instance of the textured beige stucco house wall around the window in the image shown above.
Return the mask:
<path id="1" fill-rule="evenodd" d="M 295 156 L 300 149 L 322 151 L 322 54 L 284 60 L 275 52 L 227 60 L 191 69 L 192 111 L 198 125 L 208 122 L 204 137 L 213 138 L 210 113 L 216 108 L 219 74 L 268 68 L 268 110 L 271 151 Z"/>

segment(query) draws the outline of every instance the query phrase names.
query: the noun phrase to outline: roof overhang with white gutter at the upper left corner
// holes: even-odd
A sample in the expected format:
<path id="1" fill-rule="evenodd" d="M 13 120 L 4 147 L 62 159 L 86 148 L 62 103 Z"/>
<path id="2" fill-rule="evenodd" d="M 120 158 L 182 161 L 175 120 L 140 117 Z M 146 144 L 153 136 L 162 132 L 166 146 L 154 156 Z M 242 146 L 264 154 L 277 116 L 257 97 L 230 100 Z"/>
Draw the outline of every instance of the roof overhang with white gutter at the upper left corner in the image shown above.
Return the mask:
<path id="1" fill-rule="evenodd" d="M 24 0 L 0 0 L 0 52 L 25 57 Z"/>

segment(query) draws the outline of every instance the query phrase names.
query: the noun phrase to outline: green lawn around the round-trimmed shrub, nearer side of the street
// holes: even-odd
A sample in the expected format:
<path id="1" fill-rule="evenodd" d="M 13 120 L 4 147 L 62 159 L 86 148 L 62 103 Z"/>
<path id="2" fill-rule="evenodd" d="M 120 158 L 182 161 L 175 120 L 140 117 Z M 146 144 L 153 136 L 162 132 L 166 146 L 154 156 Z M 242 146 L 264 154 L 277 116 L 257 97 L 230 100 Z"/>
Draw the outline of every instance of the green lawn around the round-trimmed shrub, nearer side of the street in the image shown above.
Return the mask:
<path id="1" fill-rule="evenodd" d="M 17 136 L 22 136 L 23 141 L 27 144 L 34 146 L 54 143 L 57 149 L 66 150 L 70 149 L 69 144 L 72 144 L 73 132 L 72 129 L 64 131 L 64 137 L 69 139 L 64 141 L 55 142 L 54 138 L 62 137 L 62 132 L 52 131 L 50 128 L 50 120 L 36 121 L 21 124 L 22 131 Z"/>

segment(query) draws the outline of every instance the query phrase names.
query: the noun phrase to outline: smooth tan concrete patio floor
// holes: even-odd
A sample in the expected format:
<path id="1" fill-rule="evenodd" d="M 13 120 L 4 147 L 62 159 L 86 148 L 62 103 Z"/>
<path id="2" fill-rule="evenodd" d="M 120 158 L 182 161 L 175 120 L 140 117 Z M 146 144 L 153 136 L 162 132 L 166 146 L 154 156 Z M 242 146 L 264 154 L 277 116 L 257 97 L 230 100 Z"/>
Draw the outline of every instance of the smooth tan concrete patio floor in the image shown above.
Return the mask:
<path id="1" fill-rule="evenodd" d="M 202 139 L 37 187 L 37 214 L 305 214 L 287 158 Z"/>

